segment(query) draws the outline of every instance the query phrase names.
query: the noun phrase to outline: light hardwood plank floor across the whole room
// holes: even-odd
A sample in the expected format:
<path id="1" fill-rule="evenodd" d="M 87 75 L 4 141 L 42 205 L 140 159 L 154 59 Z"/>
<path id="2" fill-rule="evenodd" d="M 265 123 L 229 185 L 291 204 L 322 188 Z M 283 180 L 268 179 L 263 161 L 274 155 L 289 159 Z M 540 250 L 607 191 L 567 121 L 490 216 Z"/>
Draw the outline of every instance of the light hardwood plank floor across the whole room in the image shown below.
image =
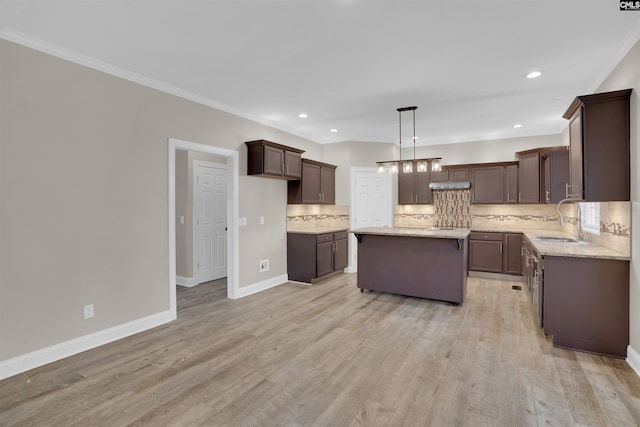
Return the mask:
<path id="1" fill-rule="evenodd" d="M 179 288 L 175 322 L 0 382 L 0 425 L 640 425 L 626 362 L 553 348 L 513 284 L 470 278 L 459 307 L 353 274 Z"/>

